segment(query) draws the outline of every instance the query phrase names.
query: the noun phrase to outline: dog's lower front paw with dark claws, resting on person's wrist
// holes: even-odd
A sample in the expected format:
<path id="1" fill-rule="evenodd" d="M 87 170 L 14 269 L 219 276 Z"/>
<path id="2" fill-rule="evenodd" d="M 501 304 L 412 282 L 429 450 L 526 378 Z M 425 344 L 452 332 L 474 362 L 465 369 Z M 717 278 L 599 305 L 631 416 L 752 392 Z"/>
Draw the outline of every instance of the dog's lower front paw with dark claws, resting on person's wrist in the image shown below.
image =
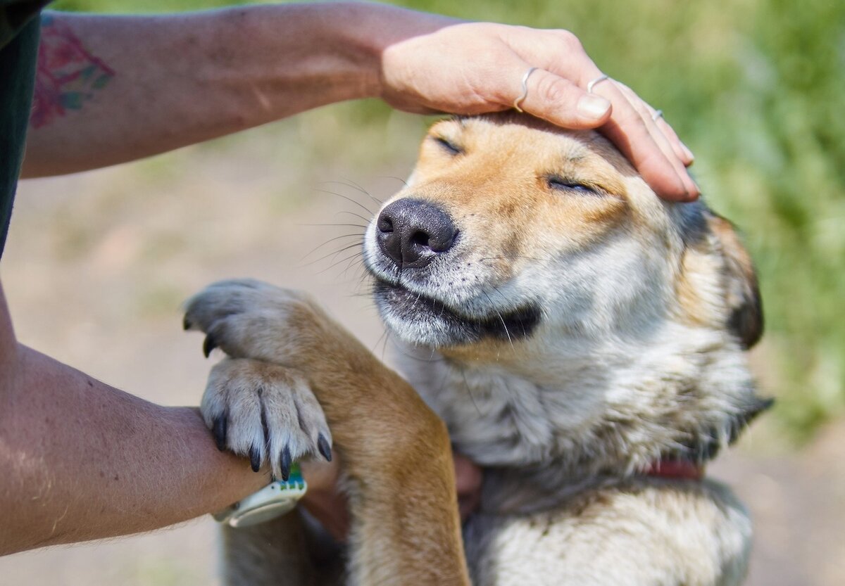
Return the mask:
<path id="1" fill-rule="evenodd" d="M 248 457 L 256 472 L 270 462 L 275 477 L 287 480 L 292 462 L 303 456 L 331 460 L 323 409 L 290 368 L 225 358 L 211 369 L 200 410 L 217 447 Z"/>

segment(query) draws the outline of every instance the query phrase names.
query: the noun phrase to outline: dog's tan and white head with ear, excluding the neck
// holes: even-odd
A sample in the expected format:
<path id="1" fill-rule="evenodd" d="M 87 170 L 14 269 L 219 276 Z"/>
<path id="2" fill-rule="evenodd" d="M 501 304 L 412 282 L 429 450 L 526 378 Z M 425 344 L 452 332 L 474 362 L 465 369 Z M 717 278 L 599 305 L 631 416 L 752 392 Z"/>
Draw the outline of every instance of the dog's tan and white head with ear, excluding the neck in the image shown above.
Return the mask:
<path id="1" fill-rule="evenodd" d="M 435 124 L 369 226 L 365 258 L 392 331 L 447 352 L 659 317 L 746 346 L 762 327 L 754 269 L 726 220 L 662 202 L 596 133 L 527 117 Z"/>

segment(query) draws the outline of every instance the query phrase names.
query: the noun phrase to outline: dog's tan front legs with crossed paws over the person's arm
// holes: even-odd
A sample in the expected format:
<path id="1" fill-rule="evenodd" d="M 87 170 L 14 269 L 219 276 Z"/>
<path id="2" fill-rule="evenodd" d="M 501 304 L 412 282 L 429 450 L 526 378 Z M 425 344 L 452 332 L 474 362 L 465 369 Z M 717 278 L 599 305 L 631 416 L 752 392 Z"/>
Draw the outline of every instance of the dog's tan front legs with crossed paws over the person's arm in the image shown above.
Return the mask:
<path id="1" fill-rule="evenodd" d="M 238 410 L 238 403 L 257 402 L 254 389 L 263 387 L 264 397 L 272 393 L 281 399 L 287 385 L 294 397 L 305 398 L 308 389 L 302 385 L 307 383 L 319 399 L 343 448 L 354 523 L 352 583 L 468 583 L 449 437 L 401 377 L 308 297 L 256 281 L 210 285 L 188 301 L 185 323 L 208 334 L 231 356 L 215 367 L 207 390 L 215 397 L 206 396 L 203 407 L 207 421 L 217 415 L 212 409 L 218 405 L 237 414 L 226 436 L 233 451 L 248 456 L 244 446 L 254 427 L 261 426 L 259 409 L 251 411 L 251 418 L 248 410 Z M 292 421 L 303 415 L 297 402 L 265 403 L 267 423 L 294 426 Z M 319 426 L 319 414 L 312 418 Z M 379 433 L 363 434 L 360 425 Z M 306 435 L 307 428 L 306 422 L 301 430 Z M 274 444 L 271 436 L 270 446 Z M 309 446 L 307 453 L 313 451 Z M 332 583 L 335 572 L 316 572 L 326 564 L 301 555 L 307 551 L 305 535 L 312 542 L 327 539 L 296 514 L 258 528 L 227 531 L 227 582 L 303 584 L 308 577 L 310 583 Z"/>

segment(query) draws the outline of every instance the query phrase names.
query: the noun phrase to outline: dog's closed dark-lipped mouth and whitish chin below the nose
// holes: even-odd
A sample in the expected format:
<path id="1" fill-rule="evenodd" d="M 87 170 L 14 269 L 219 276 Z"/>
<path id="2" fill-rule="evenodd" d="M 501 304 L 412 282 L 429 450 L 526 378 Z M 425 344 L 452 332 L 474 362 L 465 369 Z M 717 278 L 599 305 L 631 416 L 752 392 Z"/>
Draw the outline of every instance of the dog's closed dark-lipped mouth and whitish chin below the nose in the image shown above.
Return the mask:
<path id="1" fill-rule="evenodd" d="M 527 338 L 540 323 L 535 304 L 471 316 L 443 301 L 406 289 L 377 275 L 374 297 L 384 322 L 401 339 L 417 345 L 448 347 L 482 339 L 513 342 Z"/>

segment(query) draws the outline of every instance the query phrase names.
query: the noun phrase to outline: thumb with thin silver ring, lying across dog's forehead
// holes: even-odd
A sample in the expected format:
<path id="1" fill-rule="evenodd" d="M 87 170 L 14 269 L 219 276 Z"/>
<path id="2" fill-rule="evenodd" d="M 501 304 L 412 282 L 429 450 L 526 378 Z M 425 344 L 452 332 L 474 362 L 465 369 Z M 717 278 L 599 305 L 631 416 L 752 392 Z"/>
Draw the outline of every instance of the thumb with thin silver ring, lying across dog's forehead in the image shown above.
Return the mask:
<path id="1" fill-rule="evenodd" d="M 570 80 L 535 69 L 526 81 L 522 110 L 563 128 L 597 128 L 610 117 L 610 100 L 588 94 Z"/>

